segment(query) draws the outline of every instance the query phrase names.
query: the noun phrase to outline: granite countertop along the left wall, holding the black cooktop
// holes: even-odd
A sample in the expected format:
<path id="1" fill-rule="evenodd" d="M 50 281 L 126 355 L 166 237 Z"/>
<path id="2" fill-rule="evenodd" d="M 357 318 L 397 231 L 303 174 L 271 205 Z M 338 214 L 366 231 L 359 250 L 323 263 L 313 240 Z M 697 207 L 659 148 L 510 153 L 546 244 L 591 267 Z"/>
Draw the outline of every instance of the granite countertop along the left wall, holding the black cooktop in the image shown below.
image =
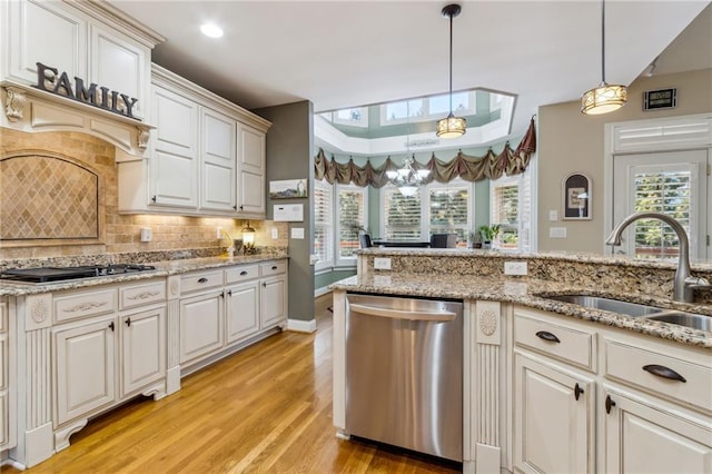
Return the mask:
<path id="1" fill-rule="evenodd" d="M 127 275 L 111 275 L 93 278 L 81 278 L 61 283 L 49 284 L 27 284 L 14 282 L 0 282 L 0 296 L 22 296 L 36 295 L 48 292 L 59 292 L 66 289 L 88 288 L 92 286 L 107 285 L 123 282 L 137 282 L 142 279 L 167 277 L 169 275 L 180 275 L 188 271 L 206 270 L 210 268 L 227 267 L 230 265 L 258 264 L 260 261 L 271 261 L 289 258 L 287 254 L 263 254 L 263 255 L 240 255 L 236 257 L 202 257 L 185 258 L 177 260 L 151 261 L 155 270 L 139 271 Z"/>

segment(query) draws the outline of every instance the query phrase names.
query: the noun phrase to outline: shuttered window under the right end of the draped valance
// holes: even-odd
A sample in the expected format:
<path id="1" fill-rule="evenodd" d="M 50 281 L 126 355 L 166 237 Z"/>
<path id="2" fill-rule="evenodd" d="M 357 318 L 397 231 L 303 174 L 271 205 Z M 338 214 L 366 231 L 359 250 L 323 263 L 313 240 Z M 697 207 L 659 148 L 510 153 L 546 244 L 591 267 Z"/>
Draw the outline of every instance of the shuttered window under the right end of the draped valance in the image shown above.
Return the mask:
<path id="1" fill-rule="evenodd" d="M 490 184 L 490 223 L 498 224 L 500 248 L 527 251 L 530 244 L 530 171 Z"/>

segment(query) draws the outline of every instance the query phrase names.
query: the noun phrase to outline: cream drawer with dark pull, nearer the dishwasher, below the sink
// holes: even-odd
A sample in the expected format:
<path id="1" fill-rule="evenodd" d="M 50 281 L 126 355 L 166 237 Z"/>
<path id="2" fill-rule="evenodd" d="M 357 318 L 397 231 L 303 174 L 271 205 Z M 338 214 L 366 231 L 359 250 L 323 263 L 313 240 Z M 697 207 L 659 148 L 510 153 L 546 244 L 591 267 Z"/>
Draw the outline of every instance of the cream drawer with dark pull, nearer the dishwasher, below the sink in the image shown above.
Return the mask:
<path id="1" fill-rule="evenodd" d="M 589 371 L 595 371 L 595 333 L 567 327 L 557 322 L 514 314 L 514 342 Z"/>

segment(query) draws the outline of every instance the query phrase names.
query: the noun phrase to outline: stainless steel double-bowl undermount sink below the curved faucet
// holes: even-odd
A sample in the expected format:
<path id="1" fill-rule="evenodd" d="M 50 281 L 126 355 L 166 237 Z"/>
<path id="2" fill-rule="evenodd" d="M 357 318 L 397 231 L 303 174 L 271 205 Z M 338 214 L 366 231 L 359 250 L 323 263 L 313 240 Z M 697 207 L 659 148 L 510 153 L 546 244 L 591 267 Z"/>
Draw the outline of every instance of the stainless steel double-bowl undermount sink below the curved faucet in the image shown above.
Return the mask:
<path id="1" fill-rule="evenodd" d="M 676 309 L 664 309 L 657 306 L 641 305 L 637 303 L 622 302 L 620 299 L 606 298 L 604 296 L 590 295 L 553 295 L 545 296 L 546 299 L 554 299 L 562 303 L 586 308 L 602 309 L 611 313 L 624 314 L 632 317 L 642 317 L 649 320 L 676 324 L 692 329 L 712 333 L 712 316 L 694 313 L 685 313 Z"/>

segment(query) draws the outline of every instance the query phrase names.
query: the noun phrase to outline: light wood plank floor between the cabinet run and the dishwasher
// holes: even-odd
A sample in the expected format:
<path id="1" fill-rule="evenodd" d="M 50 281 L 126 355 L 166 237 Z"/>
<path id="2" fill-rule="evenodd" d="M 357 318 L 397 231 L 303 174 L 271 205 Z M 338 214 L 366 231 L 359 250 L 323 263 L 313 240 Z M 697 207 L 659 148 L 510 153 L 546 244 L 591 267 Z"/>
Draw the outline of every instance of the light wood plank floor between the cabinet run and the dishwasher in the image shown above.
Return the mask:
<path id="1" fill-rule="evenodd" d="M 34 473 L 453 473 L 458 465 L 335 437 L 330 295 L 317 332 L 283 333 L 96 418 Z M 19 473 L 3 467 L 2 473 Z"/>

